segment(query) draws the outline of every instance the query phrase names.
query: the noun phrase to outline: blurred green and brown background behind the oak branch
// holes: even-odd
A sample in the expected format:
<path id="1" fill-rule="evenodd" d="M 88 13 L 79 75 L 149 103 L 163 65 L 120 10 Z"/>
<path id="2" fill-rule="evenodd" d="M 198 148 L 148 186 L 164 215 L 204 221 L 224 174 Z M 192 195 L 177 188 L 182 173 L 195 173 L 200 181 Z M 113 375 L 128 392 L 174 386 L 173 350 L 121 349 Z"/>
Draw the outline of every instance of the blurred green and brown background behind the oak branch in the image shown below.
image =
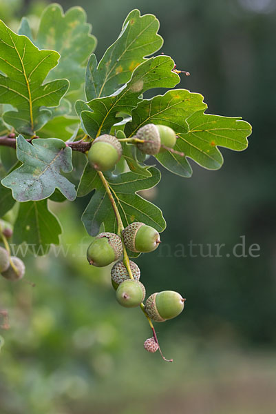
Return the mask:
<path id="1" fill-rule="evenodd" d="M 184 313 L 157 324 L 164 354 L 142 347 L 142 313 L 114 300 L 105 270 L 87 266 L 89 237 L 75 208 L 52 204 L 67 254 L 26 260 L 26 279 L 0 280 L 1 414 L 272 414 L 276 404 L 276 3 L 274 0 L 92 0 L 82 6 L 98 39 L 98 59 L 128 12 L 160 19 L 162 52 L 191 72 L 180 88 L 204 95 L 207 112 L 253 125 L 245 152 L 222 149 L 218 171 L 193 164 L 191 179 L 162 170 L 148 194 L 162 208 L 162 246 L 138 265 L 147 293 L 178 290 Z M 1 0 L 0 17 L 17 29 L 45 3 Z M 245 236 L 259 257 L 226 256 Z M 226 244 L 222 257 L 181 257 L 180 244 Z M 187 249 L 187 247 L 186 247 Z M 197 250 L 198 252 L 198 250 Z"/>

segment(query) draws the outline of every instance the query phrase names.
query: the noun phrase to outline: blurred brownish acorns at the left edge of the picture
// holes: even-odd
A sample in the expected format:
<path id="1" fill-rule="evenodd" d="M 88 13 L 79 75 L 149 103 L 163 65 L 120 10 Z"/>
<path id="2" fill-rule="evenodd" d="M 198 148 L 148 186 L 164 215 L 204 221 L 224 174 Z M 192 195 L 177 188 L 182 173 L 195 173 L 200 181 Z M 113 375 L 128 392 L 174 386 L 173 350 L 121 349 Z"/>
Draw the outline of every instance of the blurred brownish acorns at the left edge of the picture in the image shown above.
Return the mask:
<path id="1" fill-rule="evenodd" d="M 6 221 L 0 220 L 1 233 L 6 239 L 12 236 L 12 227 Z M 0 242 L 1 242 L 0 234 Z M 6 248 L 0 246 L 0 274 L 9 280 L 19 280 L 25 275 L 25 264 L 17 256 L 10 256 Z"/>

